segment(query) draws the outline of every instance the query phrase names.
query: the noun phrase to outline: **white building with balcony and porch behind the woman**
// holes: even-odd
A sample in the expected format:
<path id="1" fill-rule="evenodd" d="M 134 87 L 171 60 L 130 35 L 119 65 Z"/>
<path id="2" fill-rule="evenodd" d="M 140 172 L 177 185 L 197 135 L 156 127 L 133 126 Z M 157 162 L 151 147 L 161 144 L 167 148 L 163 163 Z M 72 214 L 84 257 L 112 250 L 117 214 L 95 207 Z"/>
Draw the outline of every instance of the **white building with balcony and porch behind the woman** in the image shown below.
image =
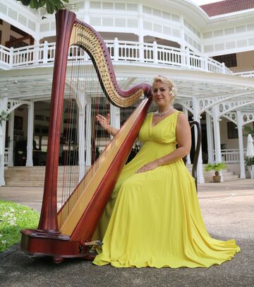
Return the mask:
<path id="1" fill-rule="evenodd" d="M 151 83 L 157 74 L 175 81 L 177 107 L 202 124 L 199 182 L 203 162 L 226 162 L 246 178 L 243 127 L 253 129 L 254 122 L 253 1 L 200 7 L 191 0 L 70 3 L 77 18 L 104 38 L 121 87 Z M 56 31 L 44 8 L 37 13 L 15 0 L 0 0 L 0 19 L 0 112 L 11 115 L 0 130 L 5 185 L 4 167 L 44 164 L 43 153 L 35 163 L 33 141 L 47 149 Z M 89 108 L 84 102 L 81 110 Z M 111 121 L 120 124 L 113 107 Z"/>

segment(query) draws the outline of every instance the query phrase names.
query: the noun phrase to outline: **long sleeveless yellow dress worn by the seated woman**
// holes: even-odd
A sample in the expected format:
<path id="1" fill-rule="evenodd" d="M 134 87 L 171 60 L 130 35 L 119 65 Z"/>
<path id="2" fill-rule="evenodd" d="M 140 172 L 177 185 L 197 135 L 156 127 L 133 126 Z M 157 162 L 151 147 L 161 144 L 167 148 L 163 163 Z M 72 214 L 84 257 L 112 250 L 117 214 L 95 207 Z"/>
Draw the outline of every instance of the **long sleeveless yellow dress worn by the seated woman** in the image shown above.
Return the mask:
<path id="1" fill-rule="evenodd" d="M 235 240 L 216 240 L 207 233 L 195 182 L 183 160 L 135 173 L 176 149 L 178 115 L 174 112 L 154 127 L 152 113 L 147 115 L 139 133 L 143 147 L 123 168 L 102 216 L 102 252 L 94 264 L 207 267 L 240 251 Z"/>

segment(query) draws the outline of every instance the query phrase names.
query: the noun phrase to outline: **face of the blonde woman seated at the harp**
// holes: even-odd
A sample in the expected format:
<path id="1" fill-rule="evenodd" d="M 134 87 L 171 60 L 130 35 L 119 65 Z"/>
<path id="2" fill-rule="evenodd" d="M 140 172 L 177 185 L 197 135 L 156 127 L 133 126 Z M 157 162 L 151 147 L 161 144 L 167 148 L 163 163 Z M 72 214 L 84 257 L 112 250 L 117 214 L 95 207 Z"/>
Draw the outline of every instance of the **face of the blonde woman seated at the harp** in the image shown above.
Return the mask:
<path id="1" fill-rule="evenodd" d="M 169 107 L 172 96 L 169 95 L 169 86 L 161 81 L 155 82 L 152 87 L 152 95 L 158 107 Z"/>

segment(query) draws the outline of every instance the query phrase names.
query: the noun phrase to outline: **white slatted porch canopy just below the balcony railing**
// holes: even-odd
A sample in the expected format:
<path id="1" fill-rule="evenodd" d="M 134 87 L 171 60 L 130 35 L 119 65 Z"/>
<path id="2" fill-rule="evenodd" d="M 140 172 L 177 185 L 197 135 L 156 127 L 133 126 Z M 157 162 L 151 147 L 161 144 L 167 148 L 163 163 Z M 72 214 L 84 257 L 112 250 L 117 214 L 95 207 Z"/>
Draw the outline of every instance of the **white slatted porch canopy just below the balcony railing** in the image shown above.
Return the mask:
<path id="1" fill-rule="evenodd" d="M 254 79 L 212 74 L 202 71 L 169 69 L 162 66 L 126 64 L 114 66 L 119 86 L 126 90 L 137 83 L 152 83 L 154 75 L 171 78 L 178 89 L 177 102 L 212 100 L 212 102 L 240 102 L 238 110 L 254 112 Z M 68 75 L 67 71 L 67 75 Z M 68 78 L 68 76 L 67 76 Z M 93 78 L 92 81 L 97 81 Z M 13 100 L 50 100 L 52 68 L 0 71 L 0 98 Z M 66 92 L 68 87 L 66 88 Z M 87 92 L 88 93 L 88 92 Z"/>

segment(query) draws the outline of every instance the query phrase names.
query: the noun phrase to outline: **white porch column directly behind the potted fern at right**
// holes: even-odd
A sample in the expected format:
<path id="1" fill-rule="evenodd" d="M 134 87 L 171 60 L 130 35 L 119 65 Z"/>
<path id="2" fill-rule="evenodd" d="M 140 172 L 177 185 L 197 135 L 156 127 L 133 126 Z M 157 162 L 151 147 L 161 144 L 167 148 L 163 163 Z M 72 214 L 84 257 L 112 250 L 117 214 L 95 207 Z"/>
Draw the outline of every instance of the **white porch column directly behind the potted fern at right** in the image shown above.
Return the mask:
<path id="1" fill-rule="evenodd" d="M 220 131 L 219 131 L 219 107 L 214 105 L 212 107 L 212 119 L 214 126 L 214 150 L 215 150 L 215 163 L 222 163 L 222 151 L 220 146 Z M 221 182 L 224 181 L 222 171 L 219 172 Z"/>

